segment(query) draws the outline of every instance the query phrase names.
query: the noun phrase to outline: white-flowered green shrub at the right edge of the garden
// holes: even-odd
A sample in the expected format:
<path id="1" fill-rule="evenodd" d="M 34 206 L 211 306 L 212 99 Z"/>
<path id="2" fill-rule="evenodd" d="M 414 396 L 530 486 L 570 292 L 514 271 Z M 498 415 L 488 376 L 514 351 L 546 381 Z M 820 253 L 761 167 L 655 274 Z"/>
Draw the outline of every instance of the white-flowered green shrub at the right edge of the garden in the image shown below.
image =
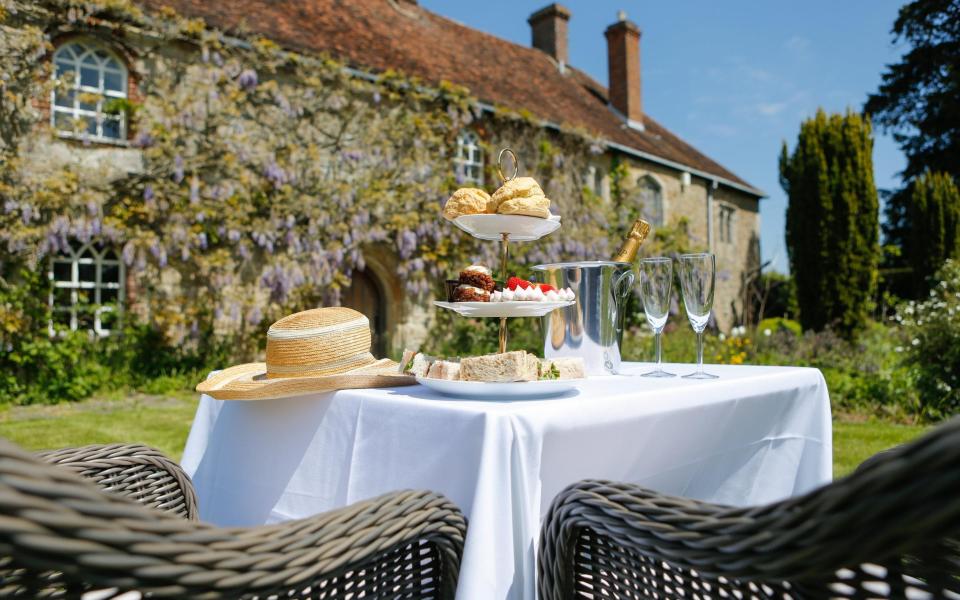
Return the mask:
<path id="1" fill-rule="evenodd" d="M 960 413 L 960 262 L 946 261 L 930 287 L 925 300 L 905 303 L 894 319 L 906 330 L 920 413 L 941 419 Z"/>

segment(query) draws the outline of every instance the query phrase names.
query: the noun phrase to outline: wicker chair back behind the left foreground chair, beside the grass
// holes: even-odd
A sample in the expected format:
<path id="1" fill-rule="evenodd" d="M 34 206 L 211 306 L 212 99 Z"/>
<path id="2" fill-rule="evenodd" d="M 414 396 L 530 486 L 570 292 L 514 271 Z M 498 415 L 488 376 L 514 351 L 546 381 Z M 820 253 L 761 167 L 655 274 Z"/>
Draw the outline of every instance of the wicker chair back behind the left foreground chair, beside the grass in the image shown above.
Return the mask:
<path id="1" fill-rule="evenodd" d="M 37 456 L 94 481 L 108 492 L 185 519 L 197 518 L 197 494 L 190 477 L 154 448 L 96 444 L 40 452 Z"/>

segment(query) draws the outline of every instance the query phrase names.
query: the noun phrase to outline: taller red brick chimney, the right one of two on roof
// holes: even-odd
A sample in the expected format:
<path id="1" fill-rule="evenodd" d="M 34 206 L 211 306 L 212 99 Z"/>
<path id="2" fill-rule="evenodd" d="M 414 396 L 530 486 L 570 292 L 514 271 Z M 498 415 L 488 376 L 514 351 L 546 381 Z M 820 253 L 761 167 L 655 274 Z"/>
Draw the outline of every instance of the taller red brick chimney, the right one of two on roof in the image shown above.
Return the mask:
<path id="1" fill-rule="evenodd" d="M 607 72 L 610 104 L 631 127 L 643 129 L 640 95 L 640 28 L 621 11 L 618 21 L 607 27 Z"/>

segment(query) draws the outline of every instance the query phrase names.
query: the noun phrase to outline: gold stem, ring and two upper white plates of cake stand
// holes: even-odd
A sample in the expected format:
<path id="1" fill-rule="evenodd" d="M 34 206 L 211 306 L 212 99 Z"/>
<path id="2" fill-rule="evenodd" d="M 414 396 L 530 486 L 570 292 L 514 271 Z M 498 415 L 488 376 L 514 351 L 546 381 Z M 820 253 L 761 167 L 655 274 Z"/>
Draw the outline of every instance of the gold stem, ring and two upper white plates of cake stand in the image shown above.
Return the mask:
<path id="1" fill-rule="evenodd" d="M 513 175 L 504 177 L 503 157 L 513 158 Z M 514 179 L 520 171 L 520 161 L 509 148 L 500 151 L 497 158 L 500 179 L 504 183 Z M 486 241 L 500 242 L 500 280 L 507 284 L 507 259 L 510 255 L 510 242 L 533 242 L 560 229 L 560 217 L 553 215 L 548 219 L 522 215 L 461 215 L 454 219 L 454 225 L 473 237 Z M 558 308 L 570 306 L 574 301 L 507 301 L 507 302 L 442 302 L 435 300 L 440 308 L 452 310 L 464 317 L 493 317 L 500 319 L 500 352 L 507 351 L 507 319 L 510 317 L 542 317 Z"/>

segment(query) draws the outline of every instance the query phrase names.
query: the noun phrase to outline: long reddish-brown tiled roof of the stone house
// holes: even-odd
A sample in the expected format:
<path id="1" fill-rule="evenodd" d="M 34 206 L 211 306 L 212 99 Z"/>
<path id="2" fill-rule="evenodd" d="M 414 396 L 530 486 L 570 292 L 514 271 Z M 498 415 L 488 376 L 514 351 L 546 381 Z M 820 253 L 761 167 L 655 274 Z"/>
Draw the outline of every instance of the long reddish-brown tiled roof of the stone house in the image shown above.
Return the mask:
<path id="1" fill-rule="evenodd" d="M 554 60 L 447 19 L 405 0 L 139 0 L 203 17 L 226 31 L 264 35 L 302 52 L 325 52 L 351 66 L 393 69 L 437 83 L 450 81 L 491 104 L 526 109 L 545 121 L 589 131 L 639 153 L 761 192 L 644 115 L 644 131 L 607 107 L 607 90 Z M 520 18 L 520 17 L 517 17 Z M 511 76 L 512 74 L 512 76 Z"/>

